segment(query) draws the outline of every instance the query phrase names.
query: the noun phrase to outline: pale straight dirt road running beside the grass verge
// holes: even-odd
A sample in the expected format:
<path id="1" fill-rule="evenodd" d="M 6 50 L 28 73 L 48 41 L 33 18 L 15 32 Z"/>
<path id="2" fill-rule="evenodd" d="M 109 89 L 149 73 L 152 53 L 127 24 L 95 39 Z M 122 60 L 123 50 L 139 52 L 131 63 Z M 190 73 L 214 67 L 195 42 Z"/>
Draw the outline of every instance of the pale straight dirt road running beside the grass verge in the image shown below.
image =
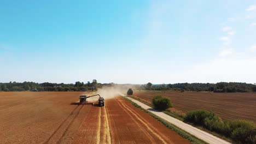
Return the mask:
<path id="1" fill-rule="evenodd" d="M 165 119 L 165 121 L 172 123 L 173 125 L 176 125 L 177 127 L 187 131 L 188 133 L 198 137 L 199 139 L 206 141 L 208 143 L 212 143 L 212 144 L 230 144 L 229 142 L 226 142 L 222 139 L 219 139 L 218 137 L 211 135 L 209 133 L 206 133 L 205 131 L 202 131 L 200 129 L 197 129 L 195 127 L 192 127 L 189 124 L 183 123 L 182 121 L 179 121 L 176 118 L 173 118 L 171 116 L 166 115 L 163 112 L 157 111 L 152 109 L 152 107 L 149 107 L 141 102 L 139 102 L 138 100 L 132 99 L 130 97 L 127 97 L 128 99 L 132 100 L 134 103 L 138 104 L 139 106 L 141 106 L 143 109 L 146 109 L 152 113 L 154 113 L 156 116 L 161 117 L 162 119 Z"/>

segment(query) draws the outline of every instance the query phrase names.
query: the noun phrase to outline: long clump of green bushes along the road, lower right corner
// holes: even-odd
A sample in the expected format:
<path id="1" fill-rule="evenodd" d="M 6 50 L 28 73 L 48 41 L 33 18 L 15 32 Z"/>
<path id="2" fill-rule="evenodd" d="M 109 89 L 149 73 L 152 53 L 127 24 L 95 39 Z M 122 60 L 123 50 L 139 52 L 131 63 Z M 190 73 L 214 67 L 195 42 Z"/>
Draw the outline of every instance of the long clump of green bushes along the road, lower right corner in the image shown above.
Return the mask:
<path id="1" fill-rule="evenodd" d="M 222 121 L 213 112 L 206 110 L 190 111 L 184 121 L 230 137 L 237 143 L 256 143 L 256 126 L 251 121 Z"/>

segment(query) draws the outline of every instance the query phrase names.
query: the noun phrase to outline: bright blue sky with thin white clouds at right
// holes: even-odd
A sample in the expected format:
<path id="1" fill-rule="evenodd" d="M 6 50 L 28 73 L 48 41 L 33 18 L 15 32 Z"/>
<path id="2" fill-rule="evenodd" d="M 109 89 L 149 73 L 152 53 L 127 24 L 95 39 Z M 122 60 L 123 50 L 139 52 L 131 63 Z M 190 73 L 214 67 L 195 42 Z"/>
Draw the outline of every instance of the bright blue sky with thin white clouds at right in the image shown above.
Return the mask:
<path id="1" fill-rule="evenodd" d="M 256 82 L 255 1 L 1 1 L 0 82 Z"/>

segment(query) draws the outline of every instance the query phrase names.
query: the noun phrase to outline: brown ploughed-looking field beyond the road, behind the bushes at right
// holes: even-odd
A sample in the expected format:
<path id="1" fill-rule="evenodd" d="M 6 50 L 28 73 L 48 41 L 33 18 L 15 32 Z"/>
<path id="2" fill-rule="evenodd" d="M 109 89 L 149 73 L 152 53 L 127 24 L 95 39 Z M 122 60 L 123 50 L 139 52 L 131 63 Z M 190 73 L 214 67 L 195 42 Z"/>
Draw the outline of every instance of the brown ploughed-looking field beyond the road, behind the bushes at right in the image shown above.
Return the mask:
<path id="1" fill-rule="evenodd" d="M 212 92 L 135 92 L 133 96 L 151 103 L 155 95 L 171 99 L 174 111 L 205 109 L 224 119 L 247 119 L 256 122 L 256 93 Z"/>

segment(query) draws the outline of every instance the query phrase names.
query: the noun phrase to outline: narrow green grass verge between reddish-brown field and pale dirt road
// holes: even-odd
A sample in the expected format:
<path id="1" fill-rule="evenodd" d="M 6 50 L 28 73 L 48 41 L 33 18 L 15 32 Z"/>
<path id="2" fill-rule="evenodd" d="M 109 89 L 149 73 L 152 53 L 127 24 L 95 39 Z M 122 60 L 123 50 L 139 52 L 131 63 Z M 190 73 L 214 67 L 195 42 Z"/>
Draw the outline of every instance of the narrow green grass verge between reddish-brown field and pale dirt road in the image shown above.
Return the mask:
<path id="1" fill-rule="evenodd" d="M 141 106 L 139 106 L 138 104 L 134 103 L 133 101 L 131 101 L 130 99 L 127 99 L 125 97 L 123 97 L 125 100 L 129 101 L 132 105 L 134 105 L 135 107 L 137 107 L 138 109 L 143 110 L 144 112 L 147 112 L 150 116 L 152 116 L 153 118 L 155 118 L 156 120 L 158 120 L 159 122 L 161 122 L 162 124 L 164 124 L 167 128 L 170 128 L 171 130 L 175 131 L 176 133 L 178 133 L 179 135 L 181 135 L 182 137 L 184 137 L 185 139 L 189 140 L 191 143 L 207 143 L 205 141 L 202 141 L 200 139 L 198 139 L 197 137 L 187 133 L 186 131 L 176 127 L 175 125 L 165 121 L 164 119 L 160 118 L 159 116 L 154 115 L 154 113 L 149 112 L 145 109 L 143 109 Z"/>

